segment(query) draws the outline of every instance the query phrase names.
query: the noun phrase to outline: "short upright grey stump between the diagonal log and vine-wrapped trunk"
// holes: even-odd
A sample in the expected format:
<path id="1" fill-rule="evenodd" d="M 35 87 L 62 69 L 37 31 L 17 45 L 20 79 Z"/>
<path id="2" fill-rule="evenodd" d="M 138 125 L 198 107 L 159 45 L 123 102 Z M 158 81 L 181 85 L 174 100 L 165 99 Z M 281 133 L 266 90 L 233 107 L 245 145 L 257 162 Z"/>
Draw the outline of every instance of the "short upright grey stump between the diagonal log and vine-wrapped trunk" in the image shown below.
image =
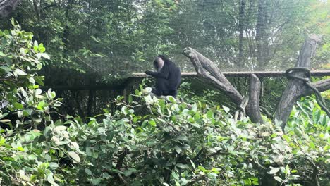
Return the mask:
<path id="1" fill-rule="evenodd" d="M 260 113 L 260 88 L 261 82 L 257 75 L 252 74 L 250 79 L 250 97 L 249 104 L 247 104 L 247 115 L 253 123 L 264 123 Z"/>

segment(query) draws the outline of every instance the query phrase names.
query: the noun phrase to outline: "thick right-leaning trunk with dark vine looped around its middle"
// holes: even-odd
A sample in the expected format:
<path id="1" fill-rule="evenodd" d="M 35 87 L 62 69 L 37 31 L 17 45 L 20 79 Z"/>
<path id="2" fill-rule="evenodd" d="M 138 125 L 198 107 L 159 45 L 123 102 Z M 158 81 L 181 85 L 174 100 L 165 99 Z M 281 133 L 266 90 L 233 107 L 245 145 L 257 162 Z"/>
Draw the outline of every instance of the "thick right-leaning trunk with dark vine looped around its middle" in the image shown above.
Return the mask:
<path id="1" fill-rule="evenodd" d="M 297 62 L 295 63 L 295 67 L 310 68 L 310 59 L 314 55 L 317 48 L 317 43 L 320 39 L 321 38 L 317 35 L 310 35 L 305 39 L 305 43 L 300 49 L 300 54 Z M 304 72 L 292 72 L 291 74 L 295 77 L 304 77 L 305 75 Z M 286 126 L 286 122 L 290 116 L 293 105 L 295 104 L 295 101 L 297 101 L 298 97 L 302 95 L 302 90 L 304 88 L 305 85 L 303 85 L 301 80 L 288 80 L 288 85 L 282 94 L 274 116 L 274 120 L 282 121 L 282 129 Z"/>

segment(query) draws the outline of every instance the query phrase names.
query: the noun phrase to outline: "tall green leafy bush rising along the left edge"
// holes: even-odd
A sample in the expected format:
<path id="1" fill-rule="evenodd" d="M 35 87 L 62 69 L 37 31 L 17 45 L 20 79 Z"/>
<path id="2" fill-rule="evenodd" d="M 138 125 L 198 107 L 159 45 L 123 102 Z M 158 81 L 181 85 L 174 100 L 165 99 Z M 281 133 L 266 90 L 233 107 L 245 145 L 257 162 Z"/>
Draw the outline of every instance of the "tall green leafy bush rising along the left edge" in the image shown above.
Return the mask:
<path id="1" fill-rule="evenodd" d="M 78 161 L 79 146 L 51 118 L 61 102 L 55 92 L 40 89 L 42 77 L 36 74 L 49 56 L 32 42 L 32 33 L 12 23 L 13 30 L 0 30 L 0 185 L 69 182 L 74 172 L 60 161 Z"/>

